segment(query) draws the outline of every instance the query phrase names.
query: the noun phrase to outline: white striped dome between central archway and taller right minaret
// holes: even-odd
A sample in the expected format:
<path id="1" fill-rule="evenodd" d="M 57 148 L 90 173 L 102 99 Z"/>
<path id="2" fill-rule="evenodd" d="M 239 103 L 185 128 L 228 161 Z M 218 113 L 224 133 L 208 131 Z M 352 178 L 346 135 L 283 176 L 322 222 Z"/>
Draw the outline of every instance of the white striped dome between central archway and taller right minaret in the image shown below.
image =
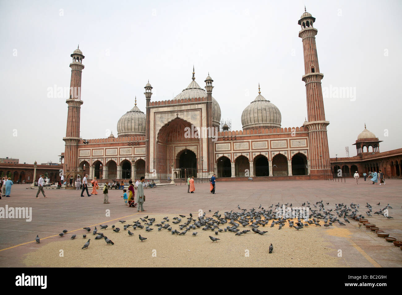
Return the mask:
<path id="1" fill-rule="evenodd" d="M 259 90 L 259 86 L 258 86 Z M 280 128 L 282 122 L 281 112 L 258 91 L 258 96 L 242 113 L 243 129 Z"/>

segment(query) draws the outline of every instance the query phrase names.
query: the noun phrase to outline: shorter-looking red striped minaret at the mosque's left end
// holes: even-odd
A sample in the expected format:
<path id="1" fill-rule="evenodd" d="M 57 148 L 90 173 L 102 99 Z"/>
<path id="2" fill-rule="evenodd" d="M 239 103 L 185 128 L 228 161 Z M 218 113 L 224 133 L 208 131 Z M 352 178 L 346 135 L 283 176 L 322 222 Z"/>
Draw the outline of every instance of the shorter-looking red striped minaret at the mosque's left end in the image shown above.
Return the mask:
<path id="1" fill-rule="evenodd" d="M 63 140 L 66 142 L 64 151 L 64 174 L 66 177 L 71 173 L 73 177 L 78 172 L 78 144 L 80 138 L 80 111 L 81 105 L 81 74 L 84 65 L 82 64 L 82 51 L 79 47 L 74 50 L 71 55 L 73 62 L 70 63 L 71 67 L 71 81 L 70 81 L 70 98 L 66 100 L 68 105 L 67 113 L 67 130 L 66 137 Z"/>

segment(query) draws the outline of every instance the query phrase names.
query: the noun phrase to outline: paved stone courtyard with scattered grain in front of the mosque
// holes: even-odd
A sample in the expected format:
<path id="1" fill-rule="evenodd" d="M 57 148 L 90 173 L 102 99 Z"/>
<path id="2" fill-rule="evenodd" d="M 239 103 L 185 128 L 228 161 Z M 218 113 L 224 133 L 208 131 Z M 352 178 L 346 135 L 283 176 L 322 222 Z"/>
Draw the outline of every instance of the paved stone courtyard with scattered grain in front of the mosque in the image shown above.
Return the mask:
<path id="1" fill-rule="evenodd" d="M 219 210 L 223 216 L 225 211 L 240 211 L 238 205 L 250 210 L 262 204 L 263 208 L 268 209 L 278 202 L 299 207 L 307 201 L 313 205 L 323 200 L 324 204 L 330 203 L 325 205 L 326 209 L 334 209 L 335 203 L 358 203 L 359 213 L 363 215 L 366 215 L 365 205 L 368 202 L 373 206 L 373 217 L 369 217 L 369 221 L 389 232 L 390 236 L 402 240 L 402 180 L 399 179 L 387 180 L 385 186 L 370 185 L 364 181 L 356 185 L 353 179 L 347 179 L 347 183 L 324 180 L 217 182 L 215 195 L 209 193 L 209 183 L 196 183 L 194 194 L 187 193 L 187 186 L 180 184 L 161 186 L 145 190 L 144 209 L 147 211 L 141 213 L 137 213 L 136 208 L 124 205 L 121 190 L 109 190 L 111 203 L 103 204 L 101 190 L 98 195 L 80 197 L 80 191 L 76 190 L 46 189 L 47 198 L 40 195 L 39 199 L 35 199 L 36 189 L 27 187 L 13 185 L 12 197 L 0 200 L 2 208 L 6 205 L 32 207 L 31 222 L 25 219 L 0 219 L 0 267 L 402 267 L 402 251 L 399 247 L 377 237 L 364 226 L 359 228 L 359 223 L 351 219 L 346 226 L 336 222 L 330 228 L 313 225 L 299 231 L 289 228 L 287 224 L 281 231 L 277 227 L 266 226 L 264 230 L 268 233 L 264 236 L 248 233 L 237 237 L 222 232 L 217 236 L 221 240 L 214 243 L 208 236 L 215 234 L 204 232 L 201 228 L 195 230 L 198 232 L 196 237 L 191 236 L 191 231 L 186 236 L 172 236 L 167 232 L 158 232 L 156 226 L 152 226 L 155 228 L 152 232 L 137 229 L 132 237 L 128 237 L 122 226 L 121 233 L 111 231 L 111 225 L 118 226 L 119 220 L 132 223 L 147 215 L 156 218 L 155 224 L 162 221 L 164 216 L 169 216 L 172 224 L 174 216 L 183 214 L 188 217 L 191 212 L 196 218 L 199 210 L 206 212 L 207 216 Z M 375 205 L 378 202 L 381 205 Z M 373 214 L 388 203 L 393 208 L 389 210 L 393 219 Z M 110 216 L 106 216 L 106 210 L 110 210 Z M 99 224 L 109 225 L 103 232 L 115 245 L 107 246 L 104 241 L 95 241 L 92 231 L 86 233 L 82 230 L 86 226 L 91 230 L 97 226 L 100 232 Z M 58 234 L 64 229 L 68 233 L 60 238 Z M 82 234 L 85 233 L 88 236 L 84 240 Z M 77 235 L 76 240 L 70 239 L 72 234 Z M 148 237 L 148 240 L 140 242 L 138 234 Z M 35 242 L 36 235 L 41 238 L 40 244 Z M 88 238 L 91 238 L 90 247 L 82 250 Z M 270 243 L 275 247 L 273 254 L 268 254 Z M 60 249 L 64 250 L 64 260 L 59 257 Z M 154 250 L 158 253 L 156 257 L 152 256 Z M 245 255 L 247 250 L 249 256 Z M 341 257 L 338 257 L 338 250 L 342 251 Z M 143 257 L 139 257 L 139 254 Z"/>

